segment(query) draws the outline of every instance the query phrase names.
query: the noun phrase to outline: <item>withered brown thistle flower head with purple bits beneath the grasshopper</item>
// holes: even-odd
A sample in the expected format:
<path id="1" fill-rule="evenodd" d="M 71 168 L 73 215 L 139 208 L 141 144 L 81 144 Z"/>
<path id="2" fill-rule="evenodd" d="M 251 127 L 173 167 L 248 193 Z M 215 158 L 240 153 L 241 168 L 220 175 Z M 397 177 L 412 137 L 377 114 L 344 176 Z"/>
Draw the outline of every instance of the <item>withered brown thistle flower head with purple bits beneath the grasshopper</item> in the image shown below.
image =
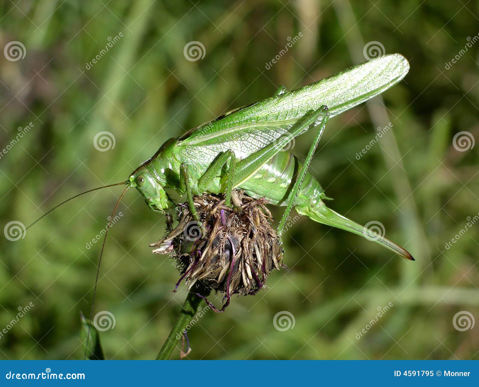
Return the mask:
<path id="1" fill-rule="evenodd" d="M 243 191 L 234 191 L 233 208 L 224 205 L 223 195 L 194 197 L 194 205 L 203 222 L 194 220 L 186 203 L 178 206 L 178 226 L 167 222 L 168 235 L 151 244 L 156 254 L 169 254 L 189 288 L 196 281 L 212 290 L 226 293 L 225 303 L 215 311 L 224 311 L 233 294 L 254 295 L 274 268 L 283 266 L 281 239 L 271 227 L 273 217 L 264 198 L 252 199 Z"/>

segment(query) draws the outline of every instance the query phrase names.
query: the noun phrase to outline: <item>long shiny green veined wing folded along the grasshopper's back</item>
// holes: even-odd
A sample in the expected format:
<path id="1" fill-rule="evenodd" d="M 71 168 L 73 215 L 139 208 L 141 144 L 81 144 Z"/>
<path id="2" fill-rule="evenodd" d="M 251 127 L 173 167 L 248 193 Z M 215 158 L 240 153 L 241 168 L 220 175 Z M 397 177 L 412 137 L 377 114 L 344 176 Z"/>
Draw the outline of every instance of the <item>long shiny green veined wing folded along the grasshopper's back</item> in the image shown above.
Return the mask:
<path id="1" fill-rule="evenodd" d="M 333 117 L 387 90 L 408 71 L 409 63 L 400 54 L 361 63 L 200 125 L 180 138 L 175 154 L 187 164 L 210 163 L 227 149 L 244 159 L 287 135 L 308 112 L 326 105 Z"/>

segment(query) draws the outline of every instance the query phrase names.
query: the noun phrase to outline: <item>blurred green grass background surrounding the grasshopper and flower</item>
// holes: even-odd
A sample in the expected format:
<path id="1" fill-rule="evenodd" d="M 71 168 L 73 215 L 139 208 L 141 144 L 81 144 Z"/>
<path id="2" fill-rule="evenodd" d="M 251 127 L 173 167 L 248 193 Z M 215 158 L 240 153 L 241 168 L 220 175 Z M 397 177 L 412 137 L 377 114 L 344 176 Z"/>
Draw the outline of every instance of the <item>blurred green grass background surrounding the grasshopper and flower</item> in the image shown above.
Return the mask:
<path id="1" fill-rule="evenodd" d="M 272 275 L 266 292 L 235 297 L 224 314 L 206 313 L 189 331 L 189 358 L 478 359 L 477 327 L 453 326 L 459 311 L 479 316 L 478 226 L 445 249 L 479 211 L 478 148 L 453 146 L 460 131 L 478 138 L 478 47 L 445 69 L 479 33 L 477 4 L 349 7 L 340 0 L 4 2 L 1 46 L 20 41 L 26 55 L 0 58 L 0 149 L 18 127 L 34 126 L 0 159 L 1 224 L 28 224 L 82 190 L 125 180 L 166 139 L 281 84 L 297 88 L 347 68 L 366 42 L 378 41 L 410 60 L 409 75 L 383 94 L 386 110 L 373 102 L 332 119 L 311 170 L 335 199 L 332 208 L 362 224 L 381 222 L 417 261 L 301 218 L 285 238 L 291 271 Z M 265 69 L 299 32 L 303 37 Z M 205 46 L 203 59 L 185 59 L 191 41 Z M 356 160 L 376 122 L 389 121 L 388 136 Z M 115 147 L 99 152 L 93 137 L 103 130 L 114 134 Z M 304 157 L 311 137 L 297 138 L 293 152 Z M 0 337 L 1 358 L 82 358 L 80 310 L 89 315 L 100 250 L 100 243 L 86 244 L 119 194 L 114 187 L 76 199 L 2 246 L 0 329 L 18 307 L 34 307 Z M 116 320 L 101 334 L 106 358 L 151 359 L 185 289 L 171 293 L 178 273 L 148 247 L 162 235 L 163 217 L 136 192 L 119 211 L 95 313 L 108 310 Z M 394 306 L 357 340 L 389 302 Z M 285 310 L 295 327 L 278 331 L 273 318 Z"/>

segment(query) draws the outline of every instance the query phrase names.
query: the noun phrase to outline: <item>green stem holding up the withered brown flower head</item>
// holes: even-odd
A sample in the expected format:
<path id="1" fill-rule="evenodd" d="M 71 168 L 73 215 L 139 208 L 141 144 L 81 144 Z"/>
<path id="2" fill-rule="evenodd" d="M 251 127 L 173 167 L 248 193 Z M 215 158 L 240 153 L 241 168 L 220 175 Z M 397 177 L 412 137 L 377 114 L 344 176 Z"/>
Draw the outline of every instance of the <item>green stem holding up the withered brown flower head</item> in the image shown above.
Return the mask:
<path id="1" fill-rule="evenodd" d="M 196 295 L 196 293 L 206 297 L 210 294 L 210 292 L 211 291 L 205 288 L 205 286 L 199 281 L 193 285 L 192 289 L 188 292 L 188 295 L 184 300 L 182 310 L 176 319 L 175 325 L 171 329 L 168 338 L 161 347 L 160 353 L 158 353 L 156 360 L 168 360 L 170 358 L 171 353 L 173 353 L 173 350 L 183 336 L 183 330 L 194 318 L 194 315 L 198 311 L 198 307 L 200 307 L 201 304 L 205 304 L 205 300 Z"/>

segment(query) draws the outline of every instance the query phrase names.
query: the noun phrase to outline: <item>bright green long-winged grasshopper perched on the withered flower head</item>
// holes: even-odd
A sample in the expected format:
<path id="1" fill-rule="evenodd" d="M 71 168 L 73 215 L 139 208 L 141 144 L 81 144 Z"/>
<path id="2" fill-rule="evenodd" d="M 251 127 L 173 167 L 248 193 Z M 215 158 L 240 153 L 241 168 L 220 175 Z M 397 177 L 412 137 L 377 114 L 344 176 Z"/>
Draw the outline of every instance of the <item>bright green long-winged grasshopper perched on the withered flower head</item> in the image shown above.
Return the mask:
<path id="1" fill-rule="evenodd" d="M 319 182 L 308 173 L 328 119 L 398 83 L 409 71 L 399 54 L 378 57 L 319 82 L 228 112 L 199 125 L 180 138 L 166 141 L 155 155 L 131 173 L 128 188 L 137 188 L 148 206 L 164 212 L 174 206 L 165 189 L 187 196 L 195 219 L 193 195 L 226 194 L 231 205 L 234 188 L 253 198 L 264 196 L 273 205 L 285 205 L 278 226 L 283 233 L 291 209 L 312 220 L 374 240 L 400 256 L 414 260 L 402 247 L 336 213 Z M 281 151 L 293 138 L 318 126 L 314 143 L 302 164 Z M 201 162 L 198 162 L 201 160 Z"/>

